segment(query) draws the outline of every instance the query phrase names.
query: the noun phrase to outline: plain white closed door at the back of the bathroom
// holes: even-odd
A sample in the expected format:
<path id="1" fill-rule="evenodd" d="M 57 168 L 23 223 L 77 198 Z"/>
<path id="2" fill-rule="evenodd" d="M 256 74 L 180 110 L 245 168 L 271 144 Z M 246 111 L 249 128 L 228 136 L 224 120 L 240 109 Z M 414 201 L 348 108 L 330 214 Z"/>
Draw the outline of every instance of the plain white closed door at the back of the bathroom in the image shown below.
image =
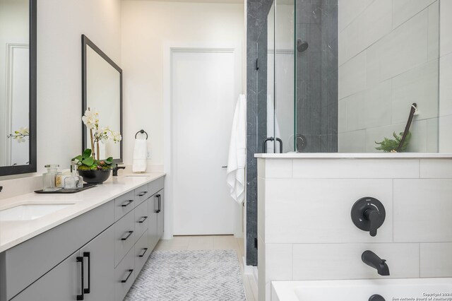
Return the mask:
<path id="1" fill-rule="evenodd" d="M 234 233 L 226 184 L 237 101 L 234 52 L 172 50 L 174 235 Z"/>

